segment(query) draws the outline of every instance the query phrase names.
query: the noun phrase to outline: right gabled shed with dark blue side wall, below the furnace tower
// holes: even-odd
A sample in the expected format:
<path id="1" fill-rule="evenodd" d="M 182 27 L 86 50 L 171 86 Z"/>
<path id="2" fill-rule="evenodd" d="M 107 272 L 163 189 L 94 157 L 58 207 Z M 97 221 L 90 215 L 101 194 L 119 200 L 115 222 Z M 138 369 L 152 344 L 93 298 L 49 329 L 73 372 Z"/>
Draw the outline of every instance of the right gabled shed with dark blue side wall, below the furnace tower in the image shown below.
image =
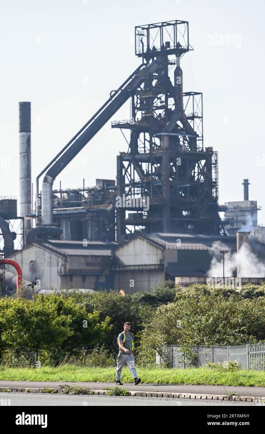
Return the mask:
<path id="1" fill-rule="evenodd" d="M 115 250 L 113 267 L 115 288 L 126 293 L 148 291 L 163 280 L 179 279 L 205 283 L 211 263 L 210 250 L 216 241 L 222 241 L 231 251 L 236 251 L 236 237 L 221 235 L 196 235 L 156 233 L 149 236 L 136 233 Z"/>

